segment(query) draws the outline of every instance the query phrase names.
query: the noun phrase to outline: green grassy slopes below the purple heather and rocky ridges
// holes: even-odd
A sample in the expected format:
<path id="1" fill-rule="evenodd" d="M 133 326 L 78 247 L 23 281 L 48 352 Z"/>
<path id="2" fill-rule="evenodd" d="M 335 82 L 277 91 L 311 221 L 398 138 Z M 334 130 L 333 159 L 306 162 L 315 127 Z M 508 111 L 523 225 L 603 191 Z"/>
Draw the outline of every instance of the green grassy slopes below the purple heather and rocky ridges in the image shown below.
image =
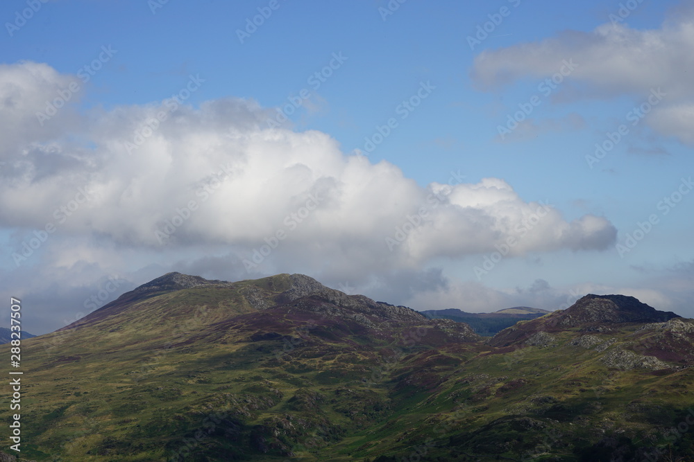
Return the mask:
<path id="1" fill-rule="evenodd" d="M 22 455 L 158 461 L 203 432 L 190 460 L 283 461 L 291 451 L 400 461 L 416 450 L 427 460 L 519 460 L 541 449 L 536 460 L 600 460 L 606 437 L 629 450 L 668 443 L 663 429 L 694 407 L 692 368 L 609 369 L 603 353 L 570 344 L 582 335 L 575 329 L 553 333 L 557 346 L 510 353 L 437 349 L 425 338 L 386 362 L 399 334 L 351 338 L 333 326 L 278 359 L 301 324 L 252 341 L 265 321 L 250 316 L 250 285 L 271 303 L 289 276 L 155 294 L 99 323 L 23 341 Z M 598 337 L 628 346 L 635 330 Z M 675 452 L 687 454 L 693 434 Z"/>

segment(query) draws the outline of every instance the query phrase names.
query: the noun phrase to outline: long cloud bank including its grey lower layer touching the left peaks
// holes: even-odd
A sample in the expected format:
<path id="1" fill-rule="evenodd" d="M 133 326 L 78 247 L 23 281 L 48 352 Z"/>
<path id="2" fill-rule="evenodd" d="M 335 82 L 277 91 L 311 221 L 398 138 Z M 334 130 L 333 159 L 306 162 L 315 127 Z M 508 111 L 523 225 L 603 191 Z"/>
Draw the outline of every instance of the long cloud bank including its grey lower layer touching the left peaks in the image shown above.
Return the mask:
<path id="1" fill-rule="evenodd" d="M 152 278 L 210 267 L 217 278 L 304 272 L 364 285 L 401 272 L 423 288 L 441 284 L 420 273 L 432 260 L 509 239 L 509 256 L 520 256 L 602 250 L 616 238 L 606 218 L 567 221 L 502 179 L 442 172 L 423 188 L 391 163 L 344 154 L 322 132 L 266 128 L 274 112 L 253 100 L 83 113 L 65 105 L 41 125 L 36 113 L 71 82 L 46 64 L 0 66 L 3 257 L 15 276 L 73 287 L 62 290 L 71 303 L 90 278 L 133 276 L 138 265 Z M 53 290 L 33 284 L 27 290 Z"/>

